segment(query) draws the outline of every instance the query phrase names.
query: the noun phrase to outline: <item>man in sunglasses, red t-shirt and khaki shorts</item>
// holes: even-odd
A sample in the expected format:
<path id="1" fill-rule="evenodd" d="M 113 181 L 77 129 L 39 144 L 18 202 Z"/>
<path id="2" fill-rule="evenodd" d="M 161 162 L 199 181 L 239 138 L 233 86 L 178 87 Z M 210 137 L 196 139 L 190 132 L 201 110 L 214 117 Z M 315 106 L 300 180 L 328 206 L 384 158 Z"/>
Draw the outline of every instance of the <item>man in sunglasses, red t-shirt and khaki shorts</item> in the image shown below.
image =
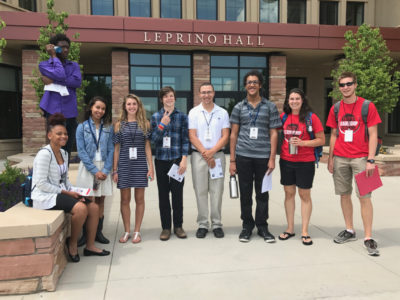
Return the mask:
<path id="1" fill-rule="evenodd" d="M 336 121 L 334 106 L 331 107 L 326 125 L 332 128 L 329 144 L 328 170 L 333 174 L 336 195 L 340 195 L 346 229 L 341 231 L 334 242 L 342 244 L 356 240 L 353 228 L 353 204 L 351 202 L 352 180 L 362 171 L 371 176 L 375 170 L 375 150 L 378 143 L 378 124 L 381 119 L 375 105 L 371 102 L 368 109 L 367 125 L 361 114 L 365 99 L 356 96 L 357 78 L 351 72 L 339 77 L 339 89 L 343 99 L 340 103 Z M 368 126 L 368 136 L 365 134 Z M 372 236 L 371 193 L 360 196 L 361 217 L 364 224 L 364 246 L 369 255 L 377 256 L 377 243 Z"/>

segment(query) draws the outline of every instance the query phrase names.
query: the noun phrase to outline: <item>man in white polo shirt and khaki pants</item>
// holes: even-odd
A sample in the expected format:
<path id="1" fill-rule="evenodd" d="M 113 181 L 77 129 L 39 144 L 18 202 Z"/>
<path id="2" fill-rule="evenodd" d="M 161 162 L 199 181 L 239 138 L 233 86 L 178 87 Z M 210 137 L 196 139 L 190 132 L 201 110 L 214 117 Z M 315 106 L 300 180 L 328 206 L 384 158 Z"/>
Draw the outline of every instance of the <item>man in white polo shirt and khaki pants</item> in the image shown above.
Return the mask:
<path id="1" fill-rule="evenodd" d="M 210 195 L 211 228 L 216 238 L 223 238 L 221 204 L 224 192 L 225 155 L 223 148 L 229 138 L 229 116 L 214 103 L 211 83 L 200 86 L 201 103 L 189 112 L 189 139 L 192 143 L 192 178 L 197 199 L 197 238 L 205 238 L 209 228 L 208 195 Z M 209 169 L 221 162 L 222 177 L 212 179 Z"/>

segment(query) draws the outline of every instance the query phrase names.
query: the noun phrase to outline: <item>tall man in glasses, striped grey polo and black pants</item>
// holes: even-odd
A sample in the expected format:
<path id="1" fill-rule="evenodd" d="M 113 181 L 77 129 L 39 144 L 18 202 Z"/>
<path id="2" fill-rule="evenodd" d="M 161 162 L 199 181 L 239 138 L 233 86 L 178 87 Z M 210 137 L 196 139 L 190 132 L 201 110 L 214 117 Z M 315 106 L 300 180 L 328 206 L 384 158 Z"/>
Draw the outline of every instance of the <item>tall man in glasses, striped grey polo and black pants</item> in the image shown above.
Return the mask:
<path id="1" fill-rule="evenodd" d="M 250 71 L 243 84 L 247 97 L 235 105 L 231 115 L 231 159 L 229 172 L 239 176 L 242 232 L 239 241 L 249 242 L 254 226 L 267 243 L 275 242 L 268 231 L 268 192 L 261 193 L 265 174 L 275 169 L 278 144 L 277 128 L 282 126 L 276 105 L 260 95 L 263 76 Z M 252 215 L 253 181 L 256 191 L 256 214 Z"/>

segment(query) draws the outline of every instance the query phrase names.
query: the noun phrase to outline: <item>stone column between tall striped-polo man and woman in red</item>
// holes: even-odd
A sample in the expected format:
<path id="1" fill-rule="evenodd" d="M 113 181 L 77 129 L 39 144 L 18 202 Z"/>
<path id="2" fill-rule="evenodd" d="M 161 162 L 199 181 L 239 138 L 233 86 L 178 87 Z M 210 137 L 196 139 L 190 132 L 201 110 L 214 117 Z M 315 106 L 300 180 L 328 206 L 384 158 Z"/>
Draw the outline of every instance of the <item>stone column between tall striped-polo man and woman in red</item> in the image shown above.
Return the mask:
<path id="1" fill-rule="evenodd" d="M 279 112 L 283 110 L 286 97 L 286 56 L 269 58 L 269 100 L 274 102 Z"/>

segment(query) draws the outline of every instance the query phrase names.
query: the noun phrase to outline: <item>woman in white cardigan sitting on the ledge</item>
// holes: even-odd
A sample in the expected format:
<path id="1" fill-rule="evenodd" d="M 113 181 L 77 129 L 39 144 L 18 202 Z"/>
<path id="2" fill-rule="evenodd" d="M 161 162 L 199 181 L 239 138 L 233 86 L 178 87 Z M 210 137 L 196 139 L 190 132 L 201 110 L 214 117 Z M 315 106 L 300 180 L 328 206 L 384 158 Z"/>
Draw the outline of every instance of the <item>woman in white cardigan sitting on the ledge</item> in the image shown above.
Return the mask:
<path id="1" fill-rule="evenodd" d="M 68 153 L 61 149 L 68 140 L 66 119 L 56 113 L 48 119 L 47 137 L 50 144 L 41 148 L 33 161 L 33 207 L 63 210 L 71 213 L 71 237 L 67 238 L 68 255 L 72 262 L 79 262 L 78 236 L 87 217 L 87 244 L 83 255 L 106 256 L 110 252 L 94 245 L 99 207 L 96 203 L 70 190 L 68 180 Z"/>

